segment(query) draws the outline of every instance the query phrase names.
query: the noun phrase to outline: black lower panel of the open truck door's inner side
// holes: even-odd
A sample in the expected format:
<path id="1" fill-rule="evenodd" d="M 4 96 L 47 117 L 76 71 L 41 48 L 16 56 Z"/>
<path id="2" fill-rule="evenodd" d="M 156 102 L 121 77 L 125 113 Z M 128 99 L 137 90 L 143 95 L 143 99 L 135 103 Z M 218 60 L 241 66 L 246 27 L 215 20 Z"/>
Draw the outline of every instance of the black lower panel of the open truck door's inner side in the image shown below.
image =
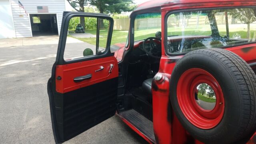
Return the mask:
<path id="1" fill-rule="evenodd" d="M 57 129 L 62 142 L 114 116 L 118 78 L 54 97 Z"/>

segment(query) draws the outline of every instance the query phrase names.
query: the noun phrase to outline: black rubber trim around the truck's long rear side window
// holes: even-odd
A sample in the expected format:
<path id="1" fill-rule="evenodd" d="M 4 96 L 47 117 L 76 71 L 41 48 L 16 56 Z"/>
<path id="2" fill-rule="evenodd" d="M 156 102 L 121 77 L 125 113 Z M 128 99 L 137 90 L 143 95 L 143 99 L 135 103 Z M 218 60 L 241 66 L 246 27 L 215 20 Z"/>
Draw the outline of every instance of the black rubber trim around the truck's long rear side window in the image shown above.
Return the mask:
<path id="1" fill-rule="evenodd" d="M 196 8 L 196 9 L 186 9 L 186 10 L 173 10 L 173 11 L 169 11 L 165 14 L 164 16 L 164 52 L 166 54 L 166 56 L 182 56 L 182 55 L 185 55 L 187 54 L 188 52 L 183 52 L 183 53 L 180 53 L 180 54 L 170 54 L 167 52 L 167 40 L 168 40 L 168 24 L 167 24 L 167 21 L 168 21 L 168 18 L 171 14 L 175 14 L 175 13 L 178 13 L 178 12 L 191 12 L 191 11 L 200 11 L 200 10 L 221 10 L 221 9 L 234 9 L 234 8 L 256 8 L 256 6 L 236 6 L 236 7 L 233 7 L 233 6 L 226 6 L 226 7 L 214 7 L 214 8 Z M 222 47 L 219 47 L 219 48 L 232 48 L 232 47 L 236 47 L 236 46 L 244 46 L 244 45 L 248 45 L 248 44 L 255 44 L 256 41 L 254 42 L 247 42 L 247 43 L 243 43 L 243 44 L 233 44 L 233 45 L 229 45 L 229 46 L 222 46 Z"/>

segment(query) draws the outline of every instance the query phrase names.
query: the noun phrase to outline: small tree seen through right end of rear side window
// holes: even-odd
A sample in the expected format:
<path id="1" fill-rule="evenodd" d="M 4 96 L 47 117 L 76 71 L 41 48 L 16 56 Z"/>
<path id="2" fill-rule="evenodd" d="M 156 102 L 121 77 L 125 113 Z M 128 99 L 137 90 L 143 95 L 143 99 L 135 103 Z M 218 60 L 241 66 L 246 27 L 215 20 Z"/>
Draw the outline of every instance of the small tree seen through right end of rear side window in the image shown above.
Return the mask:
<path id="1" fill-rule="evenodd" d="M 238 18 L 242 23 L 247 24 L 247 38 L 250 38 L 250 23 L 256 21 L 254 11 L 252 8 L 236 8 L 231 12 L 234 18 Z"/>

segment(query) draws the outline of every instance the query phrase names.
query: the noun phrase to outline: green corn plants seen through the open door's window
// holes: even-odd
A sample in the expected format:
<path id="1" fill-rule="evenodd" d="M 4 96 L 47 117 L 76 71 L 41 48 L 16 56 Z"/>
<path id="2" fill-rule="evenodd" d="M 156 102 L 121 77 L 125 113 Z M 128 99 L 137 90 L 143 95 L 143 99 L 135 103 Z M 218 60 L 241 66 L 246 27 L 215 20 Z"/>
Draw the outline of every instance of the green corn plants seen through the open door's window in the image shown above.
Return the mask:
<path id="1" fill-rule="evenodd" d="M 85 29 L 86 30 L 95 30 L 97 29 L 97 18 L 84 18 L 84 23 L 85 23 Z M 108 20 L 103 20 L 104 27 L 108 28 L 109 21 Z M 69 30 L 74 30 L 76 29 L 76 26 L 80 24 L 80 17 L 74 17 L 71 18 L 68 29 Z"/>

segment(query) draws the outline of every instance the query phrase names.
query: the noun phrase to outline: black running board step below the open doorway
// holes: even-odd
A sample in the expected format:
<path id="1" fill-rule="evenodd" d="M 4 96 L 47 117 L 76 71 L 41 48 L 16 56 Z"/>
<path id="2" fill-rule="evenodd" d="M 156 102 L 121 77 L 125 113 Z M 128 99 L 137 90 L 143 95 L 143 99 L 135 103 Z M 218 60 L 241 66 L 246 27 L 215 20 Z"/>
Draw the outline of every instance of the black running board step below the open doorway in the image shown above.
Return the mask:
<path id="1" fill-rule="evenodd" d="M 142 134 L 144 134 L 152 142 L 156 142 L 154 135 L 153 122 L 142 116 L 135 110 L 127 110 L 125 112 L 120 112 L 118 114 L 120 117 L 124 118 L 134 127 L 136 127 Z"/>

